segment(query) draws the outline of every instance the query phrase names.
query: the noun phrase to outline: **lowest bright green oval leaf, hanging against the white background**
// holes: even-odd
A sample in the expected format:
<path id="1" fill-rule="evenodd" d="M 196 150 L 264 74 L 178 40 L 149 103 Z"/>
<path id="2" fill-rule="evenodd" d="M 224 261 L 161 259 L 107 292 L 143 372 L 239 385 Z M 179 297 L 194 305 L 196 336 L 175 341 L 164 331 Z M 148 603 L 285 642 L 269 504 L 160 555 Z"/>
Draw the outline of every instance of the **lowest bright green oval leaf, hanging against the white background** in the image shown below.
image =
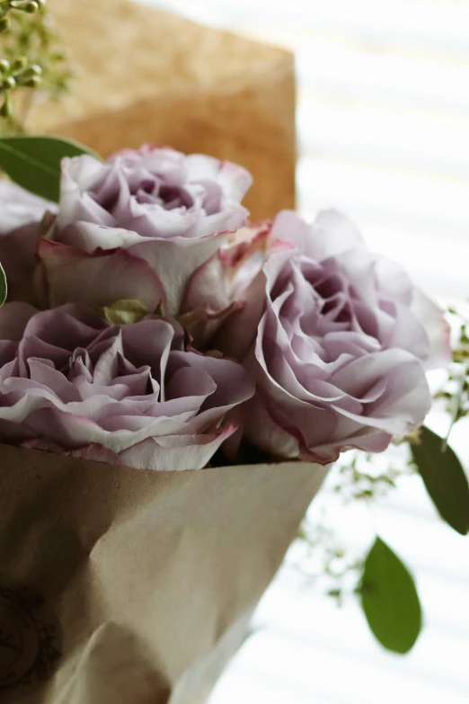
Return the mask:
<path id="1" fill-rule="evenodd" d="M 365 561 L 360 591 L 377 640 L 394 653 L 408 653 L 421 630 L 419 595 L 407 567 L 377 536 Z"/>

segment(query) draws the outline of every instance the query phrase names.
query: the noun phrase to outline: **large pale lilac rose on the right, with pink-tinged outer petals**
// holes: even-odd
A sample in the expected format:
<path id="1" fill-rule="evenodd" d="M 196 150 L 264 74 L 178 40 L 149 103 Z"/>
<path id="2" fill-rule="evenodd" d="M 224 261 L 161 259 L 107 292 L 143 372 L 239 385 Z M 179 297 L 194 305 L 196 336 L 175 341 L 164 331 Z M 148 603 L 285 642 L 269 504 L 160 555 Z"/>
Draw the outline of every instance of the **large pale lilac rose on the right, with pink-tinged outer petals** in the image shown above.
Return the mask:
<path id="1" fill-rule="evenodd" d="M 192 299 L 208 281 L 202 267 Z M 217 296 L 226 307 L 226 290 L 212 285 L 212 308 Z M 242 308 L 209 346 L 256 380 L 244 433 L 261 450 L 327 463 L 347 448 L 385 450 L 422 423 L 424 368 L 435 352 L 447 359 L 442 313 L 347 218 L 327 211 L 306 225 L 280 213 L 261 273 L 238 297 Z"/>

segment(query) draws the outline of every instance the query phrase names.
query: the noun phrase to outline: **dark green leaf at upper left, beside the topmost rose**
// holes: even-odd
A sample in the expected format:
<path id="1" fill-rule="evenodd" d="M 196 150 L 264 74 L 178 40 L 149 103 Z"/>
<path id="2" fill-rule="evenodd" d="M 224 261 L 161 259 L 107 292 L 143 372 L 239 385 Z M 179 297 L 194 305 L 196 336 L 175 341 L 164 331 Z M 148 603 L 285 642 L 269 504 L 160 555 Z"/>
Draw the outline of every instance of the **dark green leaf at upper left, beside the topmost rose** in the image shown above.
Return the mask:
<path id="1" fill-rule="evenodd" d="M 0 169 L 31 193 L 58 201 L 64 156 L 91 154 L 87 147 L 57 137 L 0 138 Z"/>

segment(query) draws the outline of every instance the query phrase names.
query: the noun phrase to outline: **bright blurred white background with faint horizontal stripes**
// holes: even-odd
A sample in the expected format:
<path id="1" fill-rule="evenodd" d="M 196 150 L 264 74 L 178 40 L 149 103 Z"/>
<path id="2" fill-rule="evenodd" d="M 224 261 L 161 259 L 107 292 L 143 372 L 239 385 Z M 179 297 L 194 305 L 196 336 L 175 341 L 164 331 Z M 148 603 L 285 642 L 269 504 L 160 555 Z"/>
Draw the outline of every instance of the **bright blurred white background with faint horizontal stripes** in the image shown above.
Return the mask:
<path id="1" fill-rule="evenodd" d="M 469 295 L 469 0 L 147 2 L 294 49 L 298 209 L 344 209 L 439 299 Z M 467 540 L 418 478 L 337 522 L 356 546 L 378 530 L 411 567 L 425 615 L 411 655 L 383 651 L 353 599 L 338 610 L 284 567 L 210 704 L 467 704 Z"/>

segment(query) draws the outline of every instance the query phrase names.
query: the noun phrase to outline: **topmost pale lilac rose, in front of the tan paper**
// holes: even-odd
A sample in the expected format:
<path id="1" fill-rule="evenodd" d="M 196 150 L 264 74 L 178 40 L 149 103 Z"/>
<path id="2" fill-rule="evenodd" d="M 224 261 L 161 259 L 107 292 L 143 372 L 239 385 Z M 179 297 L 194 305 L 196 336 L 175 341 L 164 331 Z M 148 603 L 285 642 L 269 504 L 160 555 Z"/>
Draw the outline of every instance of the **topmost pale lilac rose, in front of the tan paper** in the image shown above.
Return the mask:
<path id="1" fill-rule="evenodd" d="M 190 275 L 217 251 L 226 231 L 243 225 L 248 213 L 241 201 L 251 183 L 241 166 L 168 147 L 124 150 L 104 164 L 92 156 L 64 159 L 58 218 L 49 239 L 73 247 L 75 258 L 104 250 L 108 276 L 118 248 L 145 260 L 164 290 L 166 312 L 174 314 Z M 73 272 L 57 276 L 64 250 L 53 261 L 50 252 L 40 251 L 40 257 L 52 296 L 73 300 L 71 290 L 80 282 Z M 129 279 L 137 283 L 136 277 Z M 96 285 L 99 298 L 99 281 Z"/>

